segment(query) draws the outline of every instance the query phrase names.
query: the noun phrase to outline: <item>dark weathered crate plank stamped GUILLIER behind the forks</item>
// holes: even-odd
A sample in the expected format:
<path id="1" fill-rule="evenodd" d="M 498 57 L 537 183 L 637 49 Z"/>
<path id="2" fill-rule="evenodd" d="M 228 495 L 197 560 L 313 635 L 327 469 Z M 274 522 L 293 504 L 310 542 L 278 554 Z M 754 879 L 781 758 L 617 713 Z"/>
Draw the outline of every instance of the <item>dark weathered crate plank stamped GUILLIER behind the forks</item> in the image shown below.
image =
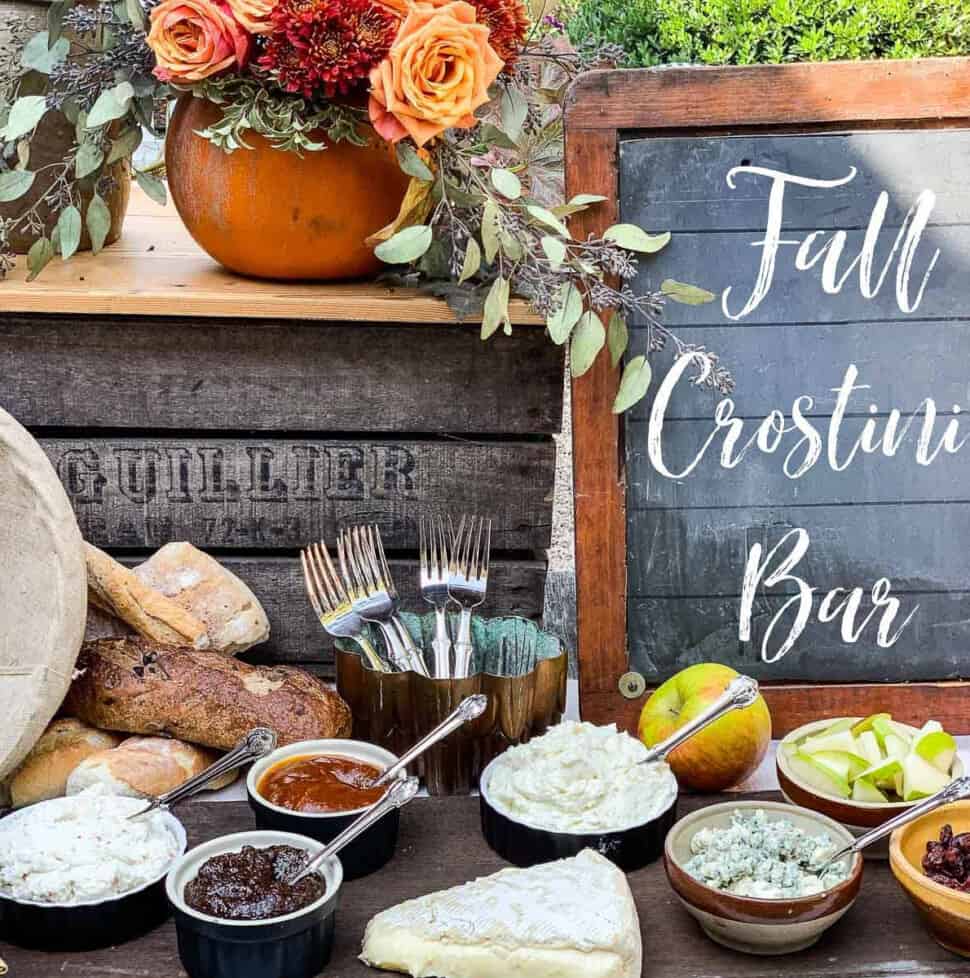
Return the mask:
<path id="1" fill-rule="evenodd" d="M 548 442 L 42 438 L 98 546 L 281 549 L 376 523 L 417 549 L 418 516 L 492 517 L 495 550 L 549 544 Z"/>

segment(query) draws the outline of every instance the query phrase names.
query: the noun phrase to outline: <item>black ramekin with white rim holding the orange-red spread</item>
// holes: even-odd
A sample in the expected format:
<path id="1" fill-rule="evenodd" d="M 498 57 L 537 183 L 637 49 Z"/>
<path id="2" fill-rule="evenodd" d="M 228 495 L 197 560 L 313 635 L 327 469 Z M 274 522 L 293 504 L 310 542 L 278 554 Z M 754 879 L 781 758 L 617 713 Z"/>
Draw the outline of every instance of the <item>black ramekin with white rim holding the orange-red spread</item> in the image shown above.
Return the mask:
<path id="1" fill-rule="evenodd" d="M 332 842 L 351 822 L 355 822 L 367 810 L 365 806 L 354 811 L 341 812 L 339 815 L 314 815 L 281 808 L 260 795 L 259 782 L 271 767 L 288 758 L 312 754 L 352 757 L 356 761 L 372 764 L 381 771 L 397 762 L 397 758 L 390 751 L 362 740 L 301 740 L 296 744 L 281 747 L 257 761 L 250 768 L 249 776 L 246 778 L 246 793 L 249 795 L 249 804 L 259 828 L 295 832 L 317 842 Z M 344 879 L 354 880 L 367 876 L 379 870 L 391 859 L 397 847 L 400 821 L 400 810 L 395 808 L 341 850 L 340 861 L 344 868 Z"/>

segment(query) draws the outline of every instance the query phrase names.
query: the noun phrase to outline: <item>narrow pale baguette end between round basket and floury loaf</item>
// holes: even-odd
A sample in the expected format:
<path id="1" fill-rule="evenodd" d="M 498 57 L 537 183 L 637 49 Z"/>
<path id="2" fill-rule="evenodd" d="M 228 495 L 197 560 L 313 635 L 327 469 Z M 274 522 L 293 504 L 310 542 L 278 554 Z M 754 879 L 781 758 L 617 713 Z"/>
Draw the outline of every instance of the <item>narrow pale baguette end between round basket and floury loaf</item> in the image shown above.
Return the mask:
<path id="1" fill-rule="evenodd" d="M 131 625 L 139 635 L 156 642 L 176 642 L 197 649 L 208 647 L 205 625 L 170 598 L 135 576 L 103 550 L 84 545 L 88 565 L 88 597 Z"/>

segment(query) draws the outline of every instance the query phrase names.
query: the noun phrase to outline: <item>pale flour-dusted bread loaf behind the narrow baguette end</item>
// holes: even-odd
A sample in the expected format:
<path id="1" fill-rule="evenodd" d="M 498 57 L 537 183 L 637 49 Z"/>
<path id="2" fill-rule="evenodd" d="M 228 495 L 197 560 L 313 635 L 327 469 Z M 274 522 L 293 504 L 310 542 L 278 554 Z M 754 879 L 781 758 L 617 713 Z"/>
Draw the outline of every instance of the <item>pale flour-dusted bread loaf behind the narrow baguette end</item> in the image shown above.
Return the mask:
<path id="1" fill-rule="evenodd" d="M 210 649 L 235 655 L 269 638 L 269 619 L 256 595 L 191 543 L 167 543 L 134 573 L 201 621 Z"/>

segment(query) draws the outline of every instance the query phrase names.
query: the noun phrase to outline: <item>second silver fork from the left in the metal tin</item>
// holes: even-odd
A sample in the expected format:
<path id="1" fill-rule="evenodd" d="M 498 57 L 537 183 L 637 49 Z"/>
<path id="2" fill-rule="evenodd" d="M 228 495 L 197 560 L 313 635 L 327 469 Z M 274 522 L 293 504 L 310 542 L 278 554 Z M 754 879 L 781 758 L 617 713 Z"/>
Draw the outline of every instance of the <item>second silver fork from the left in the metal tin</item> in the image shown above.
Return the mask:
<path id="1" fill-rule="evenodd" d="M 377 527 L 355 526 L 341 532 L 337 555 L 354 611 L 371 621 L 384 636 L 391 661 L 402 672 L 428 675 L 424 656 L 397 616 L 397 591 L 391 579 Z"/>

